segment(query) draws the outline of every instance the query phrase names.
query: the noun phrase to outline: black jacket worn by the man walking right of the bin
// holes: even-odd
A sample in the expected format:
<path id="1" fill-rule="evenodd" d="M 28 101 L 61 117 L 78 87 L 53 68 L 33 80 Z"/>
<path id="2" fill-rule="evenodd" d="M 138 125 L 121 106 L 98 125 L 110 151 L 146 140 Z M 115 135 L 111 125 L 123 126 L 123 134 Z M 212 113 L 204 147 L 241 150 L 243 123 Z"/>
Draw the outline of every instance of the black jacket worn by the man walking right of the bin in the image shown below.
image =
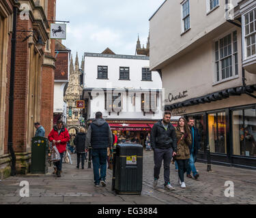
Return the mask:
<path id="1" fill-rule="evenodd" d="M 177 138 L 175 128 L 169 123 L 167 130 L 162 125 L 162 120 L 155 123 L 150 135 L 152 149 L 169 149 L 177 152 Z"/>

